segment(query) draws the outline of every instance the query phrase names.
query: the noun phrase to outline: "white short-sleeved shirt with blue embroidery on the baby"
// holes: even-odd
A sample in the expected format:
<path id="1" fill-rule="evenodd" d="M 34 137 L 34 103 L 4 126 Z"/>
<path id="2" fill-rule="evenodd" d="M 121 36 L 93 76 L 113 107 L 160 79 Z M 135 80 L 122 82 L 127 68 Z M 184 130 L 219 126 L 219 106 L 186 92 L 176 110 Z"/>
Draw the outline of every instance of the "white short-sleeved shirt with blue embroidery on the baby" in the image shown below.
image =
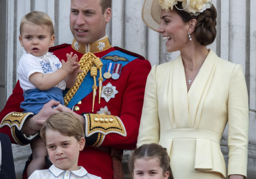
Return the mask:
<path id="1" fill-rule="evenodd" d="M 42 74 L 49 74 L 57 71 L 62 67 L 60 60 L 53 55 L 52 52 L 47 52 L 43 56 L 33 56 L 23 50 L 23 54 L 20 58 L 17 72 L 19 74 L 20 87 L 23 91 L 35 89 L 36 87 L 30 83 L 29 76 L 38 72 Z M 65 90 L 66 82 L 62 80 L 54 87 Z"/>

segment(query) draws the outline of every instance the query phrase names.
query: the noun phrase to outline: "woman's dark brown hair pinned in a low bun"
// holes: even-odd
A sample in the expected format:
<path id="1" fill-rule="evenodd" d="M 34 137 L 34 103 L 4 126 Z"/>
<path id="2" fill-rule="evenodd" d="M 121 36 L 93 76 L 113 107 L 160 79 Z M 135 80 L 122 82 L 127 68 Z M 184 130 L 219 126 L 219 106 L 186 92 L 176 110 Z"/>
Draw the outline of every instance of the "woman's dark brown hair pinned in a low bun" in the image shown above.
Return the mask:
<path id="1" fill-rule="evenodd" d="M 182 9 L 182 2 L 178 2 L 176 6 Z M 178 10 L 175 6 L 173 9 L 182 18 L 183 22 L 188 22 L 191 19 L 196 19 L 196 27 L 194 33 L 196 34 L 196 40 L 203 46 L 212 44 L 216 38 L 216 18 L 217 11 L 212 4 L 211 8 L 208 8 L 201 12 L 198 16 L 191 16 L 188 12 L 184 10 Z"/>

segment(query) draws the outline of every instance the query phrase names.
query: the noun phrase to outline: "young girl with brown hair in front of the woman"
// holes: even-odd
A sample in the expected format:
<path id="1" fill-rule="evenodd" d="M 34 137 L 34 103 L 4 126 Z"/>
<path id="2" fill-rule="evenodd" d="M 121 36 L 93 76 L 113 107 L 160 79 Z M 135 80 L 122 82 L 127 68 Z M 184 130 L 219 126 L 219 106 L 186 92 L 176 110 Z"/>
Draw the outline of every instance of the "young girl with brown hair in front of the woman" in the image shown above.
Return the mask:
<path id="1" fill-rule="evenodd" d="M 129 161 L 133 179 L 173 179 L 166 149 L 156 143 L 138 147 Z"/>

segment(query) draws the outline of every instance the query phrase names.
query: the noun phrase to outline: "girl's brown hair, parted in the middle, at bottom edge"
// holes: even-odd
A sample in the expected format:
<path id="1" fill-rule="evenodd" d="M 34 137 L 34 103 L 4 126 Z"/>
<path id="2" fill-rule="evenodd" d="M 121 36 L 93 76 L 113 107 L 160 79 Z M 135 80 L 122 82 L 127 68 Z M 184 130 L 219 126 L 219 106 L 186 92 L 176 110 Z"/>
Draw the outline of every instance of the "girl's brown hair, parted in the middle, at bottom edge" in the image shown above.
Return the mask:
<path id="1" fill-rule="evenodd" d="M 170 157 L 166 152 L 166 149 L 156 143 L 144 144 L 134 150 L 128 164 L 130 171 L 132 173 L 134 172 L 134 162 L 136 159 L 151 159 L 155 157 L 158 159 L 159 165 L 163 169 L 163 174 L 168 171 L 168 179 L 173 179 L 170 167 Z"/>

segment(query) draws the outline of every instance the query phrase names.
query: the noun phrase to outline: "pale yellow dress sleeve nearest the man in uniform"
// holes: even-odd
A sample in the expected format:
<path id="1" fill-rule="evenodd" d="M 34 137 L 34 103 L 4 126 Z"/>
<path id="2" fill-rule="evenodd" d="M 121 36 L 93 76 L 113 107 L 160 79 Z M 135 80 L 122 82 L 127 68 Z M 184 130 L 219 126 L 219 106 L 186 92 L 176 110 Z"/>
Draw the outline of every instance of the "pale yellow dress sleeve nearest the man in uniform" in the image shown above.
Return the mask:
<path id="1" fill-rule="evenodd" d="M 159 131 L 156 66 L 153 66 L 145 88 L 137 147 L 142 144 L 158 143 Z"/>

